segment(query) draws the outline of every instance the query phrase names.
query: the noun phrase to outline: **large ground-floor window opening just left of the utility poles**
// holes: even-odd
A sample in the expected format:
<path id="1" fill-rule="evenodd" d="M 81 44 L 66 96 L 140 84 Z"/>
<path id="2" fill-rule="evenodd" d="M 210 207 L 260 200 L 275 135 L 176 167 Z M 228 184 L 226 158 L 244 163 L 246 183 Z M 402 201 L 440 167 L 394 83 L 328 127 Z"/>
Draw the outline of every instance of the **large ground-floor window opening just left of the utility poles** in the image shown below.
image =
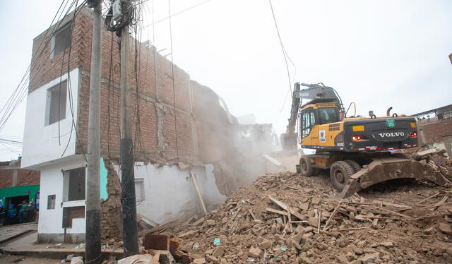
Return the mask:
<path id="1" fill-rule="evenodd" d="M 85 167 L 64 172 L 64 201 L 85 200 Z"/>

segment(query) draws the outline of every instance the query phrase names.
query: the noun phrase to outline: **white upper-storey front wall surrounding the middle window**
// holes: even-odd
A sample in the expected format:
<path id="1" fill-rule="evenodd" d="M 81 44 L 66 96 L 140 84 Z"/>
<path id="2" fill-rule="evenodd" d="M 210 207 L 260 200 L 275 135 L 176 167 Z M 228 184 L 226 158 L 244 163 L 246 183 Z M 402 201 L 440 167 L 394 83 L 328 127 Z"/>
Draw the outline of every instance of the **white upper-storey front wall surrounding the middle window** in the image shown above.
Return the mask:
<path id="1" fill-rule="evenodd" d="M 75 124 L 77 124 L 78 114 L 78 77 L 78 68 L 69 73 L 68 87 L 72 90 L 71 104 Z M 69 146 L 63 157 L 75 154 L 76 134 L 73 129 L 69 92 L 66 95 L 66 118 L 59 122 L 59 128 L 58 122 L 45 126 L 47 90 L 66 79 L 68 79 L 67 73 L 28 94 L 21 164 L 23 168 L 61 158 L 68 141 Z M 58 129 L 60 133 L 58 133 Z"/>

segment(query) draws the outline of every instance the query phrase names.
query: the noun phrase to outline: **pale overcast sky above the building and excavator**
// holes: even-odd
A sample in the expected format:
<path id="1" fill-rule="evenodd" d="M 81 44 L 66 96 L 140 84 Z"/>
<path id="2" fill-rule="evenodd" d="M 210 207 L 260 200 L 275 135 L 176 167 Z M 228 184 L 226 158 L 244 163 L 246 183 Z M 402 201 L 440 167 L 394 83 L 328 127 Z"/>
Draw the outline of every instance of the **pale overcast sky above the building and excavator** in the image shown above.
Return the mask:
<path id="1" fill-rule="evenodd" d="M 203 1 L 172 0 L 171 13 Z M 30 64 L 32 39 L 60 3 L 0 1 L 0 108 Z M 143 25 L 152 21 L 153 7 L 155 20 L 168 16 L 167 0 L 144 5 Z M 296 67 L 295 74 L 290 65 L 293 81 L 333 86 L 362 115 L 383 115 L 388 107 L 415 114 L 452 103 L 452 1 L 273 0 L 273 8 Z M 143 28 L 141 40 L 152 40 L 153 30 L 157 49 L 169 53 L 168 20 Z M 222 96 L 234 116 L 254 113 L 285 131 L 289 81 L 268 1 L 208 1 L 172 18 L 172 42 L 174 63 Z M 24 120 L 25 100 L 0 138 L 20 139 Z M 0 160 L 19 154 L 20 148 L 0 145 Z"/>

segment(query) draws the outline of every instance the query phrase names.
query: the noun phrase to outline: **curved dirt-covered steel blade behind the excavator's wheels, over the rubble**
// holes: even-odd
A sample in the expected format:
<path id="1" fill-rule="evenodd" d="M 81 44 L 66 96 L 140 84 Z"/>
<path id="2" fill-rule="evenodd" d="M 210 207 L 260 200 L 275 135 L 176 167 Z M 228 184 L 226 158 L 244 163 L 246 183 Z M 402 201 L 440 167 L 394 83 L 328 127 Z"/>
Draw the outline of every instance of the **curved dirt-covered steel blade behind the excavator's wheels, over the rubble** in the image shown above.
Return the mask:
<path id="1" fill-rule="evenodd" d="M 339 198 L 347 198 L 357 191 L 391 179 L 422 179 L 444 186 L 444 177 L 427 164 L 399 157 L 378 157 L 350 176 Z"/>

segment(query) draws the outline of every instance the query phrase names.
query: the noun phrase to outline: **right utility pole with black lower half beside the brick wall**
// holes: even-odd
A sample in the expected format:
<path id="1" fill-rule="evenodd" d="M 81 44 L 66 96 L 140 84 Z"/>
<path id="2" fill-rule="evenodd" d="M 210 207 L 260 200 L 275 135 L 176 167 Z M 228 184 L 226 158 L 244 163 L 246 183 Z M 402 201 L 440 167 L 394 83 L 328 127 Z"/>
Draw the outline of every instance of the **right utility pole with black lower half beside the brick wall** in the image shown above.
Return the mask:
<path id="1" fill-rule="evenodd" d="M 121 186 L 122 186 L 122 241 L 124 256 L 138 254 L 138 230 L 136 225 L 135 176 L 133 174 L 133 141 L 131 133 L 129 26 L 121 31 Z"/>

